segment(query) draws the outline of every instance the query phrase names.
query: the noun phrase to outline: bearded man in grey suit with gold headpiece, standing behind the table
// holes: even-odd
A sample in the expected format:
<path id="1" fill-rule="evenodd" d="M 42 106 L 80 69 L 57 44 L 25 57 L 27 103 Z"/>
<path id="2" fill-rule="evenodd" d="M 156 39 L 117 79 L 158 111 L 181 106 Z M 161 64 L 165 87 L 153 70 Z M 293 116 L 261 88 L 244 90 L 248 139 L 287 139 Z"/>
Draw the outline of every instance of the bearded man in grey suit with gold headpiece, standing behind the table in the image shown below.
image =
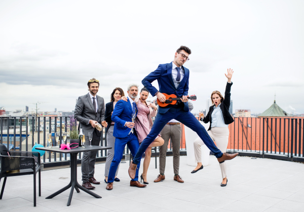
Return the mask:
<path id="1" fill-rule="evenodd" d="M 99 89 L 99 81 L 95 78 L 88 82 L 89 93 L 78 98 L 75 106 L 74 117 L 81 123 L 83 133 L 86 139 L 86 146 L 90 145 L 89 132 L 93 132 L 92 145 L 99 146 L 101 132 L 95 126 L 100 123 L 102 126 L 107 126 L 104 120 L 104 101 L 103 98 L 97 96 Z M 84 152 L 81 162 L 82 171 L 82 186 L 87 189 L 94 189 L 91 185 L 100 184 L 94 178 L 95 161 L 97 151 Z"/>

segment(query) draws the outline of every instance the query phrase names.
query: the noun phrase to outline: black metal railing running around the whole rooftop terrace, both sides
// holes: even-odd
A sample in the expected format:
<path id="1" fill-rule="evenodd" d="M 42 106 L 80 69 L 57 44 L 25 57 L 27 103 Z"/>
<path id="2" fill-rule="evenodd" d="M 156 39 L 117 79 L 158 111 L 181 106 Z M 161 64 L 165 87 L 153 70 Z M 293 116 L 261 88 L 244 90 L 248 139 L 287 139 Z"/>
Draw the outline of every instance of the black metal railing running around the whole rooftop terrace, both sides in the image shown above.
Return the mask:
<path id="1" fill-rule="evenodd" d="M 7 124 L 4 126 L 5 119 L 13 119 L 13 121 L 7 120 Z M 19 119 L 19 123 L 25 120 L 26 125 L 16 125 L 17 119 Z M 57 124 L 57 120 L 59 124 Z M 234 118 L 234 120 L 229 125 L 230 135 L 227 152 L 239 152 L 240 155 L 244 156 L 304 161 L 303 118 L 238 117 Z M 14 125 L 10 126 L 10 122 L 13 122 Z M 29 124 L 30 122 L 31 124 Z M 16 129 L 19 129 L 19 132 L 16 132 Z M 6 144 L 8 149 L 11 148 L 12 150 L 31 151 L 35 143 L 47 146 L 47 134 L 57 132 L 60 134 L 57 145 L 60 145 L 63 143 L 62 132 L 69 132 L 69 130 L 69 117 L 67 116 L 0 117 L 0 143 Z M 4 131 L 7 132 L 4 133 Z M 4 138 L 6 138 L 6 141 Z M 64 143 L 67 142 L 69 142 L 69 138 L 64 141 Z M 181 124 L 180 142 L 180 154 L 186 155 L 183 124 Z M 107 146 L 106 136 L 103 131 L 101 132 L 100 146 Z M 168 144 L 169 154 L 170 151 L 172 151 L 171 141 Z M 125 153 L 130 153 L 128 148 L 125 149 Z M 105 160 L 106 156 L 106 150 L 97 152 L 97 160 Z M 81 158 L 82 154 L 80 153 L 79 159 Z M 42 160 L 45 163 L 45 167 L 65 165 L 69 164 L 69 154 L 54 153 L 50 149 L 42 157 Z M 80 162 L 81 160 L 79 160 Z"/>

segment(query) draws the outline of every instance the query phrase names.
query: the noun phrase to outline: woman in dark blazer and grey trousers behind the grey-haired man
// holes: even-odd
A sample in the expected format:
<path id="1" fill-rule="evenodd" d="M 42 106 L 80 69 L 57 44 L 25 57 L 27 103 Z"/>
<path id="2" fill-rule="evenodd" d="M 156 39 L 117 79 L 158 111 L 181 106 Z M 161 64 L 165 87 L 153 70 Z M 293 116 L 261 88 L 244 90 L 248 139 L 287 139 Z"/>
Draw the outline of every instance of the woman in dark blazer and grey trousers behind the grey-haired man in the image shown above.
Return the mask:
<path id="1" fill-rule="evenodd" d="M 113 92 L 111 93 L 111 101 L 109 103 L 105 104 L 105 121 L 108 123 L 105 133 L 106 133 L 106 141 L 107 141 L 107 147 L 112 147 L 112 149 L 107 150 L 107 157 L 105 161 L 105 170 L 104 170 L 104 182 L 107 183 L 107 178 L 110 170 L 110 165 L 114 157 L 114 146 L 115 146 L 115 137 L 113 136 L 113 129 L 115 122 L 112 121 L 111 116 L 113 113 L 113 110 L 115 108 L 116 103 L 125 96 L 124 91 L 121 88 L 115 88 Z M 115 181 L 119 182 L 120 179 L 118 179 L 117 173 L 118 173 L 119 166 L 117 168 L 116 174 L 115 174 Z"/>

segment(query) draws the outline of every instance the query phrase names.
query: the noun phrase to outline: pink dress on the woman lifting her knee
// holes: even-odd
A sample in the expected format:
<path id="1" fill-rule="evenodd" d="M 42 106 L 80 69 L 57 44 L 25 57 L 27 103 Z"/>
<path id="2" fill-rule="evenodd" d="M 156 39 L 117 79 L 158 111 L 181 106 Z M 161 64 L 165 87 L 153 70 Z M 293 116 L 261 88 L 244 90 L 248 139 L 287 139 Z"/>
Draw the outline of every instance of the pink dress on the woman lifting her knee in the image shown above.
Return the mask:
<path id="1" fill-rule="evenodd" d="M 135 99 L 135 102 L 136 101 L 138 101 L 136 105 L 138 112 L 135 119 L 135 130 L 138 141 L 141 143 L 150 133 L 153 126 L 152 117 L 156 116 L 157 111 L 143 104 L 139 99 Z M 149 103 L 147 102 L 147 104 Z M 160 136 L 161 135 L 158 135 L 156 138 Z"/>

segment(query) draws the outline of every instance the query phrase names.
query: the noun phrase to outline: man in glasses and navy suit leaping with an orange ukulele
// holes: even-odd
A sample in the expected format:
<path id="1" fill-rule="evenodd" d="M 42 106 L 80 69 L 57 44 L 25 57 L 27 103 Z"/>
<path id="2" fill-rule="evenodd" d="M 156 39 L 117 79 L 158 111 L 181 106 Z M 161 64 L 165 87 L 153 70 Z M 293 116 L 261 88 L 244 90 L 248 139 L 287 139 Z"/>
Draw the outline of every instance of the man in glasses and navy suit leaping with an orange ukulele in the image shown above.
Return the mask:
<path id="1" fill-rule="evenodd" d="M 191 112 L 189 112 L 187 103 L 187 97 L 189 97 L 189 69 L 184 67 L 183 64 L 189 60 L 188 57 L 190 54 L 191 50 L 189 48 L 181 46 L 178 50 L 176 50 L 173 62 L 160 64 L 155 71 L 151 72 L 141 81 L 150 94 L 157 96 L 161 102 L 166 101 L 166 97 L 162 93 L 168 95 L 175 94 L 177 97 L 180 97 L 180 100 L 176 103 L 176 105 L 159 107 L 159 112 L 149 135 L 147 135 L 147 137 L 142 141 L 133 161 L 130 163 L 129 175 L 132 179 L 135 178 L 137 164 L 139 164 L 142 154 L 150 143 L 155 140 L 155 138 L 164 128 L 165 124 L 171 119 L 176 119 L 185 124 L 188 128 L 195 131 L 204 141 L 206 146 L 212 152 L 214 152 L 214 155 L 217 157 L 219 163 L 222 163 L 225 160 L 231 160 L 238 155 L 238 153 L 222 153 L 215 146 L 204 126 L 196 117 L 194 117 Z M 151 84 L 151 82 L 154 80 L 158 81 L 159 91 Z M 176 178 L 174 178 L 174 180 L 176 180 Z"/>

